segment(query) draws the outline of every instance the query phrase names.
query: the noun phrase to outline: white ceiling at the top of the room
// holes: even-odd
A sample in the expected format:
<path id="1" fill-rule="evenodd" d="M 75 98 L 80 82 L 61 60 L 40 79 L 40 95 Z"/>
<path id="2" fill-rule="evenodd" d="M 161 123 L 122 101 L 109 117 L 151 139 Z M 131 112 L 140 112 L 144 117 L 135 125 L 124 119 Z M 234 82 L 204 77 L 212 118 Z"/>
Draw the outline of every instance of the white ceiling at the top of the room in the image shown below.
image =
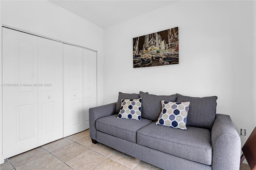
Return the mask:
<path id="1" fill-rule="evenodd" d="M 50 2 L 101 28 L 112 26 L 176 1 L 177 0 L 50 0 Z"/>

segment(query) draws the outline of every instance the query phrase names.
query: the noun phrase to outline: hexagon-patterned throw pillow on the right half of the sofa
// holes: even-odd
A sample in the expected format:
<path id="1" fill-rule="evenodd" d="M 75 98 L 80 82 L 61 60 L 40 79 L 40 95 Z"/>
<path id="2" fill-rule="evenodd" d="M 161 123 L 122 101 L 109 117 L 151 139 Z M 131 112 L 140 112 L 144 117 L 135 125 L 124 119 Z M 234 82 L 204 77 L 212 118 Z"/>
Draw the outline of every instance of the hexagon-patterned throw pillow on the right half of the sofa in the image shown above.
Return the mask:
<path id="1" fill-rule="evenodd" d="M 187 130 L 186 123 L 190 102 L 169 102 L 162 100 L 161 103 L 162 112 L 156 125 Z"/>

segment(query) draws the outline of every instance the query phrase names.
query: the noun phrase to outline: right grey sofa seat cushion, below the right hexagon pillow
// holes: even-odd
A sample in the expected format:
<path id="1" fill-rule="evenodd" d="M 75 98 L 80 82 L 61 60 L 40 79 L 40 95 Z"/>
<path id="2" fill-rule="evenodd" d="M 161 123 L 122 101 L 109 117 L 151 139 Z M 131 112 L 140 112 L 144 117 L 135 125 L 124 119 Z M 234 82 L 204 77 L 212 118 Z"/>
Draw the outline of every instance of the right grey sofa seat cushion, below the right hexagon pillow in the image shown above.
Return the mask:
<path id="1" fill-rule="evenodd" d="M 202 164 L 212 164 L 211 135 L 208 129 L 187 127 L 187 130 L 180 130 L 153 122 L 138 130 L 137 143 Z"/>

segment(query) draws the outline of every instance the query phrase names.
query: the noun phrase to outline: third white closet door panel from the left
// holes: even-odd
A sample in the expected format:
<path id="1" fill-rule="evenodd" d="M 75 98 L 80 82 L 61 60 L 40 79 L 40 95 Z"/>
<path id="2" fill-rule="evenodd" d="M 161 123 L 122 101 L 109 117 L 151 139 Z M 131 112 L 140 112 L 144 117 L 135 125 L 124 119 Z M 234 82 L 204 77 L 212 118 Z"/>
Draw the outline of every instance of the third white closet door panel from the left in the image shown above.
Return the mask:
<path id="1" fill-rule="evenodd" d="M 63 134 L 83 130 L 83 50 L 63 44 Z"/>

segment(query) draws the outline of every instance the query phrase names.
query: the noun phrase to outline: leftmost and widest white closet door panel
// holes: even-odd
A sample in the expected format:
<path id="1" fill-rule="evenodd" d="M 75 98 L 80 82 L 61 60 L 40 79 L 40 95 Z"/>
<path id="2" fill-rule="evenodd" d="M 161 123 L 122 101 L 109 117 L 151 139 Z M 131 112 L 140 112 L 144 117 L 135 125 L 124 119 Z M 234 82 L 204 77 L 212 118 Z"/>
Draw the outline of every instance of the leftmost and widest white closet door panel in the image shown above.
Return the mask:
<path id="1" fill-rule="evenodd" d="M 2 28 L 5 158 L 38 146 L 37 64 L 37 37 Z"/>

